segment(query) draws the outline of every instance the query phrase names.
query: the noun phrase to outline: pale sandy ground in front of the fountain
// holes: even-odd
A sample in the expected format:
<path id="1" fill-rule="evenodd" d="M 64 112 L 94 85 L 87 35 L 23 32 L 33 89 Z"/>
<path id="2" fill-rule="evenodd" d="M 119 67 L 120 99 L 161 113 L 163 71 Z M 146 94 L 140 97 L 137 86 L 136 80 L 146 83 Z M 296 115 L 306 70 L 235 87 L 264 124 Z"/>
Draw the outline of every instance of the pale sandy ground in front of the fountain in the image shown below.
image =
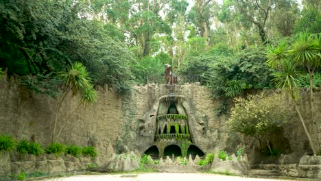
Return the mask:
<path id="1" fill-rule="evenodd" d="M 80 175 L 67 178 L 51 178 L 47 181 L 276 181 L 265 178 L 243 178 L 238 176 L 222 176 L 210 173 L 142 173 L 119 175 Z M 293 180 L 287 180 L 293 181 Z"/>

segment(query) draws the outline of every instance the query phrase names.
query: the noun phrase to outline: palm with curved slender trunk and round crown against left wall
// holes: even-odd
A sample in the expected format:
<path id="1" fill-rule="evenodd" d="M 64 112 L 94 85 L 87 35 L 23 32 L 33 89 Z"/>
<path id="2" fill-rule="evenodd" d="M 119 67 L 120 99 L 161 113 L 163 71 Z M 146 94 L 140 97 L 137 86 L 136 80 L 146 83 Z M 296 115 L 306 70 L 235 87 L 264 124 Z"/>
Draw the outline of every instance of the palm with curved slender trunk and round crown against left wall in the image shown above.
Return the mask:
<path id="1" fill-rule="evenodd" d="M 67 87 L 62 92 L 62 97 L 60 98 L 60 101 L 58 102 L 57 108 L 56 108 L 56 115 L 55 115 L 55 123 L 53 125 L 53 132 L 52 132 L 52 138 L 51 142 L 53 143 L 55 141 L 55 132 L 58 122 L 58 113 L 61 107 L 62 102 L 64 101 L 64 98 L 72 91 L 73 95 L 77 95 L 78 90 L 87 88 L 90 84 L 90 77 L 86 71 L 86 68 L 82 65 L 80 62 L 75 62 L 71 65 L 71 67 L 68 67 L 67 72 L 60 73 L 60 77 L 64 81 L 64 85 Z"/>

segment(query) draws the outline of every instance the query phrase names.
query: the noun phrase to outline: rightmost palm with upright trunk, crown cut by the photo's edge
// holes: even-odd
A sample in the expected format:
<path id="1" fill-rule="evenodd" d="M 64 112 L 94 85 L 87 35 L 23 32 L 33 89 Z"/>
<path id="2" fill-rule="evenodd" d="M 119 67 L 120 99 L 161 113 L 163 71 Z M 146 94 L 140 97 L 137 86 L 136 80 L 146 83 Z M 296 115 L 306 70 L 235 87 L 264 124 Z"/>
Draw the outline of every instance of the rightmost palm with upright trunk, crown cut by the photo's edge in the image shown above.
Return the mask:
<path id="1" fill-rule="evenodd" d="M 320 149 L 318 126 L 316 125 L 313 106 L 313 73 L 320 65 L 320 58 L 318 57 L 318 53 L 320 53 L 320 49 L 318 49 L 320 42 L 318 42 L 318 40 L 320 40 L 320 37 L 314 38 L 307 32 L 300 33 L 294 45 L 292 45 L 292 48 L 289 49 L 289 56 L 291 56 L 296 63 L 300 64 L 302 67 L 305 67 L 309 73 L 311 119 L 315 132 L 316 144 L 318 149 Z"/>

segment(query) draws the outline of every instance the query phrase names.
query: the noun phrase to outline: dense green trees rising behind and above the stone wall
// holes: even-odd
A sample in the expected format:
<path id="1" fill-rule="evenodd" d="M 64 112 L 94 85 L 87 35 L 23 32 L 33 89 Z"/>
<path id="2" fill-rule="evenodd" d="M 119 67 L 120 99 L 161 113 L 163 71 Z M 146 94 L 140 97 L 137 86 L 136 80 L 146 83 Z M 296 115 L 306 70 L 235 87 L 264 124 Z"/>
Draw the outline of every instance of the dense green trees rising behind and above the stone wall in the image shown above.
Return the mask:
<path id="1" fill-rule="evenodd" d="M 0 10 L 0 68 L 49 95 L 74 62 L 119 93 L 163 75 L 163 64 L 199 75 L 214 97 L 272 88 L 264 47 L 321 29 L 320 2 L 309 0 L 1 0 Z"/>

